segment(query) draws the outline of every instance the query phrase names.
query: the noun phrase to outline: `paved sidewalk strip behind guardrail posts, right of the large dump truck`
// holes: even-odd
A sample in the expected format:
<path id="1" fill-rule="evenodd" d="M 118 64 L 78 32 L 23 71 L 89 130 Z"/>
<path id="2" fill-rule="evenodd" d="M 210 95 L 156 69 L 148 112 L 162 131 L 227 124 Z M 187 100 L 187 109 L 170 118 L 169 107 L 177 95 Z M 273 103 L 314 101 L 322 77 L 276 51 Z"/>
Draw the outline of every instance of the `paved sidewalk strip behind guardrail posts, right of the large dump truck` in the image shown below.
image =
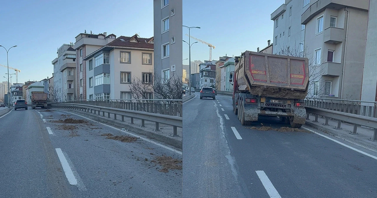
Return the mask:
<path id="1" fill-rule="evenodd" d="M 329 125 L 326 126 L 323 125 L 326 122 L 325 118 L 318 116 L 318 122 L 313 122 L 315 120 L 314 115 L 310 115 L 309 118 L 310 120 L 307 120 L 305 125 L 316 128 L 317 130 L 323 131 L 347 142 L 351 142 L 352 144 L 377 152 L 377 142 L 368 140 L 373 138 L 374 129 L 359 126 L 357 127 L 357 135 L 352 135 L 349 133 L 353 131 L 353 124 L 342 122 L 342 129 L 335 129 L 335 127 L 338 125 L 337 120 L 329 119 Z"/>

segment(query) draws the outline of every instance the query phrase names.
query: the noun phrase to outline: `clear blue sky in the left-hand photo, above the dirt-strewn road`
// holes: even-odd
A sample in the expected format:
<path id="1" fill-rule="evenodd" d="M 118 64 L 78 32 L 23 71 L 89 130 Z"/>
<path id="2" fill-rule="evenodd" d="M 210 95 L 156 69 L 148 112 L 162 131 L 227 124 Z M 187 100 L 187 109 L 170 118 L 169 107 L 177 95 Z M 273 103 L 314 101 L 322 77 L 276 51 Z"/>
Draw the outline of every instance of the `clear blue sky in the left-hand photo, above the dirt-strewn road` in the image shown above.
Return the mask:
<path id="1" fill-rule="evenodd" d="M 38 3 L 35 3 L 38 2 Z M 57 48 L 75 42 L 79 33 L 116 36 L 153 36 L 152 0 L 90 1 L 2 1 L 0 45 L 9 50 L 9 67 L 21 70 L 18 83 L 51 77 L 51 61 Z M 6 65 L 6 51 L 0 47 L 0 64 Z M 1 82 L 7 68 L 0 67 Z M 9 71 L 14 73 L 14 71 Z M 15 75 L 12 83 L 15 82 Z"/>

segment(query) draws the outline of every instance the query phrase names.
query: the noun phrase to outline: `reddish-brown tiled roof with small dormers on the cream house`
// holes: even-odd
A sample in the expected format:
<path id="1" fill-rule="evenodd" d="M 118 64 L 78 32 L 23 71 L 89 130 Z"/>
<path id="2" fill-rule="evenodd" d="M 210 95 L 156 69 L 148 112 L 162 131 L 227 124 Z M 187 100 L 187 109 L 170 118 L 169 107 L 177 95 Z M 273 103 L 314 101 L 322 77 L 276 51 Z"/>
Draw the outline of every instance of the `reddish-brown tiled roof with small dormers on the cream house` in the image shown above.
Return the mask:
<path id="1" fill-rule="evenodd" d="M 132 38 L 135 38 L 134 36 L 119 36 L 114 41 L 109 42 L 107 46 L 115 46 L 115 47 L 134 47 L 134 48 L 147 48 L 153 50 L 153 43 L 148 43 L 151 38 L 137 38 L 136 40 L 139 40 L 139 42 L 130 42 Z M 152 37 L 153 38 L 153 37 Z M 124 41 L 121 41 L 120 39 L 123 39 Z"/>

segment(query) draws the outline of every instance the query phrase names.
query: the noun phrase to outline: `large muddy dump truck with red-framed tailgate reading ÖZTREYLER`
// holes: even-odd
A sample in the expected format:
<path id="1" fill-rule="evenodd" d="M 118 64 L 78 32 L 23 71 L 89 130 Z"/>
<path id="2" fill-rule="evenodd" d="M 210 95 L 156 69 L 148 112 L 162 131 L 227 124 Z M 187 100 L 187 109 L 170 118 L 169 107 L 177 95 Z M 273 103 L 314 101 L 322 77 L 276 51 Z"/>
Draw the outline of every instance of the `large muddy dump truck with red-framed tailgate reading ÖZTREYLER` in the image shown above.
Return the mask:
<path id="1" fill-rule="evenodd" d="M 251 125 L 259 115 L 279 116 L 294 128 L 305 124 L 307 58 L 245 51 L 235 62 L 233 110 L 242 125 Z"/>

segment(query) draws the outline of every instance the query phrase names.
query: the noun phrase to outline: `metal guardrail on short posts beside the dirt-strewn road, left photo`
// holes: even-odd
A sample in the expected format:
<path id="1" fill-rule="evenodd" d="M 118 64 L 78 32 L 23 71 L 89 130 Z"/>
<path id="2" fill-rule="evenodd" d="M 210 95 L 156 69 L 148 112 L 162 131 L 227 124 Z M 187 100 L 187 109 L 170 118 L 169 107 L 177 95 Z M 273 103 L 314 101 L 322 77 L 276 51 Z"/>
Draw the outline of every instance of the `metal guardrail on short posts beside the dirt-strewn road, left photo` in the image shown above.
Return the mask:
<path id="1" fill-rule="evenodd" d="M 155 131 L 160 131 L 159 123 L 168 124 L 173 126 L 173 137 L 177 135 L 177 127 L 182 128 L 182 117 L 180 116 L 172 116 L 172 115 L 162 115 L 157 113 L 149 113 L 144 111 L 136 111 L 136 110 L 128 110 L 128 109 L 118 109 L 113 107 L 101 107 L 101 106 L 93 106 L 89 104 L 76 104 L 76 103 L 49 103 L 48 107 L 50 108 L 62 108 L 62 109 L 74 109 L 80 110 L 83 112 L 90 112 L 97 115 L 100 115 L 102 112 L 102 116 L 105 116 L 107 113 L 107 118 L 110 118 L 110 113 L 114 114 L 114 119 L 116 120 L 117 116 L 121 116 L 121 121 L 124 122 L 124 116 L 131 118 L 131 123 L 133 123 L 133 118 L 141 119 L 141 127 L 145 127 L 144 122 L 152 121 L 155 122 Z"/>

